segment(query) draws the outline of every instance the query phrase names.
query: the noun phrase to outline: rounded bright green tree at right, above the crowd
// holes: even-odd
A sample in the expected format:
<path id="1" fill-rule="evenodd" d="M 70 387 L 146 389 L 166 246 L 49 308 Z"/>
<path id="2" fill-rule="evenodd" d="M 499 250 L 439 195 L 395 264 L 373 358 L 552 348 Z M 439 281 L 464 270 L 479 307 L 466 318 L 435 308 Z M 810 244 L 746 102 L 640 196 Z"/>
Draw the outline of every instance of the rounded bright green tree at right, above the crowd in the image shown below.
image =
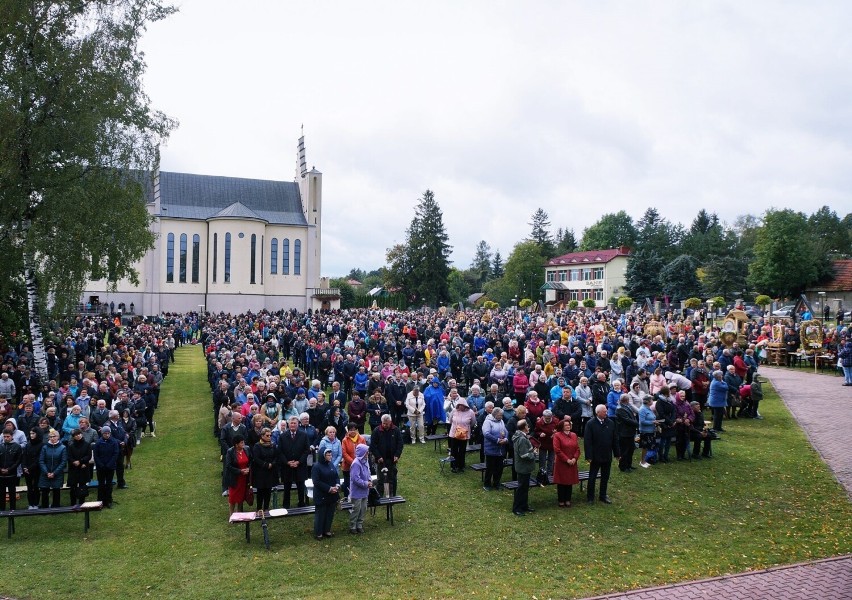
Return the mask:
<path id="1" fill-rule="evenodd" d="M 819 245 L 811 236 L 807 217 L 794 210 L 769 210 L 757 232 L 748 280 L 772 296 L 790 297 L 817 280 Z"/>

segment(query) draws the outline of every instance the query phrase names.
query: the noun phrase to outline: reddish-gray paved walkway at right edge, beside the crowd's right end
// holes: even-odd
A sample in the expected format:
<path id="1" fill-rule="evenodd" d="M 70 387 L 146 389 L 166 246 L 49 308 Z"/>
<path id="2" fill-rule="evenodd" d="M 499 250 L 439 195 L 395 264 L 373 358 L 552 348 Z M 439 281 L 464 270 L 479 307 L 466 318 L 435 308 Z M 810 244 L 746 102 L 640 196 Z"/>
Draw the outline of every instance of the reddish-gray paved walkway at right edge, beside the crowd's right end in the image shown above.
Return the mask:
<path id="1" fill-rule="evenodd" d="M 818 375 L 804 369 L 761 367 L 760 375 L 772 382 L 811 445 L 852 500 L 852 454 L 849 452 L 852 387 L 843 387 L 842 377 Z"/>

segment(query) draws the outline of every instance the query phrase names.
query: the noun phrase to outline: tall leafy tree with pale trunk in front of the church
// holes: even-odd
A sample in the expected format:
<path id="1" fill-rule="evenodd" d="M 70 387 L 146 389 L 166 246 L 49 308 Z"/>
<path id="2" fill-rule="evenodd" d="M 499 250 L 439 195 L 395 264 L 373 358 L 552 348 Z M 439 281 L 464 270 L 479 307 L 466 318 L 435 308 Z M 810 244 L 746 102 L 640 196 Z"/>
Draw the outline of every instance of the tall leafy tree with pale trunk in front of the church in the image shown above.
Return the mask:
<path id="1" fill-rule="evenodd" d="M 153 245 L 144 181 L 174 122 L 142 90 L 138 42 L 157 0 L 0 1 L 0 255 L 22 276 L 36 370 L 44 299 L 128 277 Z M 97 223 L 97 228 L 93 227 Z"/>

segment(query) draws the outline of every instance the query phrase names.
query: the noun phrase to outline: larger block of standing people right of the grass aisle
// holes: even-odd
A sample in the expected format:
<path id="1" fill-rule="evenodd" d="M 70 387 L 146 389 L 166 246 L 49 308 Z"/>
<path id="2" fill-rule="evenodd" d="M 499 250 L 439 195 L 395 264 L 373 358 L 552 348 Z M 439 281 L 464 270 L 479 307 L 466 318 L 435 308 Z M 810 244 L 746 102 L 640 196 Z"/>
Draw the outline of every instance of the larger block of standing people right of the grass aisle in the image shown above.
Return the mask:
<path id="1" fill-rule="evenodd" d="M 662 331 L 648 332 L 652 319 Z M 636 468 L 636 448 L 646 469 L 710 459 L 726 420 L 762 418 L 757 373 L 766 325 L 749 323 L 747 343 L 727 347 L 700 311 L 208 315 L 200 340 L 223 495 L 231 511 L 242 510 L 253 481 L 257 508 L 266 511 L 280 482 L 286 508 L 295 484 L 302 506 L 310 479 L 331 505 L 366 493 L 352 482 L 353 465 L 359 475 L 368 465 L 378 487 L 387 481 L 395 494 L 404 446 L 443 432 L 457 473 L 465 471 L 468 444 L 480 444 L 487 491 L 499 488 L 511 462 L 515 514 L 530 512 L 531 479 L 552 480 L 558 505 L 570 506 L 581 448 L 587 500 L 608 503 L 613 459 L 625 473 Z M 232 452 L 235 440 L 243 446 Z M 317 537 L 330 533 L 329 515 L 317 513 Z M 361 530 L 357 519 L 350 523 L 352 533 Z"/>

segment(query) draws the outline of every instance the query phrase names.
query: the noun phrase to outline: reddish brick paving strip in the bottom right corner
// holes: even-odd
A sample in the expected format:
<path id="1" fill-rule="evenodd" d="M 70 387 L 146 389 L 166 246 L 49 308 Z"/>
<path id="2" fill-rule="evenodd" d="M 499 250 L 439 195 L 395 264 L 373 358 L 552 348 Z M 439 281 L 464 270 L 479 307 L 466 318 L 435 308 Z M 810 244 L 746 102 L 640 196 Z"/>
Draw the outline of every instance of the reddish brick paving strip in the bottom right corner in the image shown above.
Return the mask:
<path id="1" fill-rule="evenodd" d="M 849 600 L 852 555 L 588 600 Z"/>

